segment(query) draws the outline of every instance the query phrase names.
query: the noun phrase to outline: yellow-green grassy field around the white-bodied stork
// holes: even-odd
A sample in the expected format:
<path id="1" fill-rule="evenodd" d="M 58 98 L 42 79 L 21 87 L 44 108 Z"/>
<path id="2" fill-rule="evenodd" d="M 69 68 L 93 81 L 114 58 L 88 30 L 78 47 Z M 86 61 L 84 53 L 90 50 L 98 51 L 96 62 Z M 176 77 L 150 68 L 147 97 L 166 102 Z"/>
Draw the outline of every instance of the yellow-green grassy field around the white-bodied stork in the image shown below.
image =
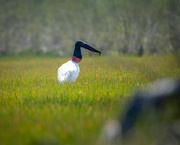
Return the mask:
<path id="1" fill-rule="evenodd" d="M 94 145 L 137 89 L 180 77 L 173 56 L 86 57 L 62 85 L 57 69 L 69 59 L 0 58 L 0 145 Z"/>

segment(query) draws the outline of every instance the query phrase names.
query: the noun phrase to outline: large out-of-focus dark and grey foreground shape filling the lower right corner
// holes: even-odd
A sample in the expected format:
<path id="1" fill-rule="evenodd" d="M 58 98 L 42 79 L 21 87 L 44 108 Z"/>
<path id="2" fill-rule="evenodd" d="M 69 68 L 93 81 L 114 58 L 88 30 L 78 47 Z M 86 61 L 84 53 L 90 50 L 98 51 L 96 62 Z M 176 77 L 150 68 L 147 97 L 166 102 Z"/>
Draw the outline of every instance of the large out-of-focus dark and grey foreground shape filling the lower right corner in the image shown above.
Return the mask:
<path id="1" fill-rule="evenodd" d="M 164 79 L 140 91 L 123 117 L 107 123 L 106 144 L 180 144 L 180 80 Z"/>

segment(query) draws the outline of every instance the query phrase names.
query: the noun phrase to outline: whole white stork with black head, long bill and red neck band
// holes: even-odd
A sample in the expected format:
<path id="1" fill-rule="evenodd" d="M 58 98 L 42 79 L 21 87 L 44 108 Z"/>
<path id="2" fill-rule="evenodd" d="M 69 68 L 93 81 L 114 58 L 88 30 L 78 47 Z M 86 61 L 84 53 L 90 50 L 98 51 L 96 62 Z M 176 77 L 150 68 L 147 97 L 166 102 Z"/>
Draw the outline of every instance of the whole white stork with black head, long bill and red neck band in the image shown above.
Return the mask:
<path id="1" fill-rule="evenodd" d="M 96 50 L 95 48 L 91 47 L 85 42 L 81 40 L 76 41 L 72 60 L 69 60 L 68 62 L 64 63 L 58 68 L 57 71 L 58 82 L 63 84 L 64 82 L 76 81 L 80 72 L 79 63 L 82 60 L 81 48 L 85 48 L 87 50 L 99 53 L 99 55 L 101 55 L 100 51 Z"/>

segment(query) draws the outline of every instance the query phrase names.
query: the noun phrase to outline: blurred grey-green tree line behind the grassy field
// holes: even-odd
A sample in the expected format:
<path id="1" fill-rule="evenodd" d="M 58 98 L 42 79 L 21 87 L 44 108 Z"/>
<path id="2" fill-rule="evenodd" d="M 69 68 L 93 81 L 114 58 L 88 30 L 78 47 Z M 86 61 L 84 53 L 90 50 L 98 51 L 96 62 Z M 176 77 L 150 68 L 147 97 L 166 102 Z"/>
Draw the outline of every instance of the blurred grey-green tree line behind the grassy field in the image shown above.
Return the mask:
<path id="1" fill-rule="evenodd" d="M 180 0 L 0 0 L 0 53 L 178 52 Z"/>

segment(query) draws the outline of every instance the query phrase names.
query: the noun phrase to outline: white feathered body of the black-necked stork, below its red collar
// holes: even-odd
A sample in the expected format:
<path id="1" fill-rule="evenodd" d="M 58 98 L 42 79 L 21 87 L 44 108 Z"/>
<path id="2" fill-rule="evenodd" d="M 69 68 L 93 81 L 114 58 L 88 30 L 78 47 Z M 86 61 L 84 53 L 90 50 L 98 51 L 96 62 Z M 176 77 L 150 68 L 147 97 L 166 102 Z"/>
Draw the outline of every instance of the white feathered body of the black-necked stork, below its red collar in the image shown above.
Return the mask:
<path id="1" fill-rule="evenodd" d="M 57 72 L 57 79 L 60 83 L 75 82 L 79 72 L 80 69 L 78 63 L 69 60 L 59 67 Z"/>

